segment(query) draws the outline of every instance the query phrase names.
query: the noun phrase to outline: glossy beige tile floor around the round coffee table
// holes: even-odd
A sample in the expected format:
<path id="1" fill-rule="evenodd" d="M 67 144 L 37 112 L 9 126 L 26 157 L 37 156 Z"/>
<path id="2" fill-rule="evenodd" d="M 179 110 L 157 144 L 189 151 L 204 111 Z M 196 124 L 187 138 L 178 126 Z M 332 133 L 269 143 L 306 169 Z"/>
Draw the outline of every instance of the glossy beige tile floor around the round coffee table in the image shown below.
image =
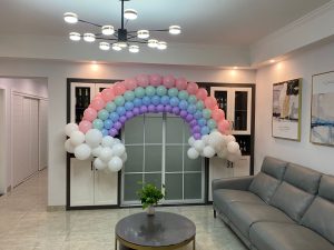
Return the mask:
<path id="1" fill-rule="evenodd" d="M 197 228 L 197 250 L 246 250 L 236 236 L 214 219 L 210 206 L 158 208 L 184 214 Z M 47 170 L 0 197 L 1 250 L 114 250 L 117 221 L 141 209 L 47 212 Z M 183 250 L 191 249 L 191 246 Z"/>

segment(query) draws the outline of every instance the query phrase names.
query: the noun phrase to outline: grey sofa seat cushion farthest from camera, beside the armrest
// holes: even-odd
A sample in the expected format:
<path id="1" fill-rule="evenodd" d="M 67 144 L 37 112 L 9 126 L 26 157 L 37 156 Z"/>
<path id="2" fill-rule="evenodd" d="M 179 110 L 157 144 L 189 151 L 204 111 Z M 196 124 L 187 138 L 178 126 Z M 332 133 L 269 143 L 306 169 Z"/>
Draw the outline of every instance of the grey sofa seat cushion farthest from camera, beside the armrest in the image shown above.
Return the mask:
<path id="1" fill-rule="evenodd" d="M 215 208 L 224 213 L 228 213 L 229 204 L 235 201 L 243 201 L 246 203 L 264 204 L 264 201 L 256 194 L 249 191 L 217 189 L 213 193 Z"/>

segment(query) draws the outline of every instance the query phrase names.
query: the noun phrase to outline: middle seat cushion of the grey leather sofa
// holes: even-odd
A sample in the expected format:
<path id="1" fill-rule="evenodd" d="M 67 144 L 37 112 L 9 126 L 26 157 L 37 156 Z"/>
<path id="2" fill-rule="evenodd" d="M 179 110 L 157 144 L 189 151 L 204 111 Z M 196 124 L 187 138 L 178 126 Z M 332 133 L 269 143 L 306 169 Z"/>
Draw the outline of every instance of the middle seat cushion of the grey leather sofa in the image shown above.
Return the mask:
<path id="1" fill-rule="evenodd" d="M 228 211 L 228 219 L 246 238 L 249 236 L 252 224 L 259 221 L 294 223 L 279 209 L 267 204 L 233 202 Z"/>

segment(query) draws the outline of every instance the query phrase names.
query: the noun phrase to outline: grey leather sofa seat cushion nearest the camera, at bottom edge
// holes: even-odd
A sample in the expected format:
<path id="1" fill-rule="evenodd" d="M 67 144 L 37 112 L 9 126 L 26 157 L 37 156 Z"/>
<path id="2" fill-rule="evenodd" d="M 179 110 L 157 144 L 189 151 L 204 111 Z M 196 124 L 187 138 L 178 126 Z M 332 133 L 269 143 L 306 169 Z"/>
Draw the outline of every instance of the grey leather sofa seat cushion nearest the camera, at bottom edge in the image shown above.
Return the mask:
<path id="1" fill-rule="evenodd" d="M 258 250 L 334 250 L 334 246 L 316 232 L 293 223 L 254 223 L 249 239 Z"/>

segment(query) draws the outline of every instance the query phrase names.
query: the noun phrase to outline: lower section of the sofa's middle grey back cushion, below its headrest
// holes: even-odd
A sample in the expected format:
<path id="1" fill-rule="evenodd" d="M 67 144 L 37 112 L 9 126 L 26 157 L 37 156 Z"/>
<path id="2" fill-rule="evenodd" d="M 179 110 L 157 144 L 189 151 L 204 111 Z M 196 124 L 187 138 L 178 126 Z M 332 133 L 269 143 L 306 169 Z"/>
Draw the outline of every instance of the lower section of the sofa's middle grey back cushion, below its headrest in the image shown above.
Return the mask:
<path id="1" fill-rule="evenodd" d="M 271 204 L 284 211 L 293 220 L 299 221 L 313 199 L 313 194 L 284 181 L 275 192 Z"/>

